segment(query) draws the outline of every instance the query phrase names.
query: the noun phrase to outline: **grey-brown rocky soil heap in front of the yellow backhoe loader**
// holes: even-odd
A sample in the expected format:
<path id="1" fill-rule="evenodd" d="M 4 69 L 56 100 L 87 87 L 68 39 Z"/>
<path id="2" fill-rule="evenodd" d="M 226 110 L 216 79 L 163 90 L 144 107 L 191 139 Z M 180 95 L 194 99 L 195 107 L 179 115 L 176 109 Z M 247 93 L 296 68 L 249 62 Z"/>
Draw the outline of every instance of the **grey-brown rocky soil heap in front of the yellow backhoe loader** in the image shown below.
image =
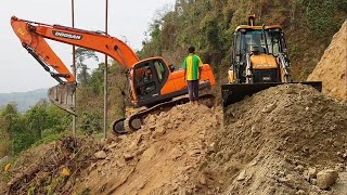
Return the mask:
<path id="1" fill-rule="evenodd" d="M 231 105 L 216 151 L 204 162 L 207 184 L 226 194 L 346 194 L 347 105 L 309 86 L 282 84 Z M 330 191 L 324 168 L 339 172 Z"/>

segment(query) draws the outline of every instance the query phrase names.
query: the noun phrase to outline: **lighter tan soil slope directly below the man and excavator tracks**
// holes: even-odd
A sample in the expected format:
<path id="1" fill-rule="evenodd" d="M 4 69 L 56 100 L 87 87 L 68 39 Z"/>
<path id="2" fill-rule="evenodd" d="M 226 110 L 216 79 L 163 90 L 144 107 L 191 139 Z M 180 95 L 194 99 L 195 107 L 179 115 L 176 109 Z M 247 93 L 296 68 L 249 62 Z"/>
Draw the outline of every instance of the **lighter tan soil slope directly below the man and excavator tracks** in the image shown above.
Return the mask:
<path id="1" fill-rule="evenodd" d="M 89 194 L 184 194 L 204 188 L 198 171 L 222 123 L 220 108 L 179 105 L 150 115 L 139 131 L 98 152 L 75 187 Z"/>

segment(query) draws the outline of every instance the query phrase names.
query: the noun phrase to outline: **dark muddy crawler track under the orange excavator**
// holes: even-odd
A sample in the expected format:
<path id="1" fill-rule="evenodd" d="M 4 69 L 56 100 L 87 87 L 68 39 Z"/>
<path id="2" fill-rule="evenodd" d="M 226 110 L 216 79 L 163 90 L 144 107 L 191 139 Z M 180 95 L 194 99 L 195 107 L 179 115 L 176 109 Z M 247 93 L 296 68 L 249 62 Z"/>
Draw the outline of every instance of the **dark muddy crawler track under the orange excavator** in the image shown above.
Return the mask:
<path id="1" fill-rule="evenodd" d="M 165 110 L 167 108 L 171 108 L 176 105 L 185 104 L 189 102 L 189 98 L 180 98 L 177 100 L 172 100 L 170 102 L 164 102 L 157 104 L 153 107 L 142 109 L 127 118 L 121 118 L 115 120 L 112 125 L 113 131 L 117 135 L 128 134 L 141 129 L 143 125 L 143 119 L 152 113 L 157 110 Z M 215 105 L 215 96 L 213 94 L 204 94 L 200 96 L 200 102 L 205 104 L 208 107 L 213 107 Z"/>

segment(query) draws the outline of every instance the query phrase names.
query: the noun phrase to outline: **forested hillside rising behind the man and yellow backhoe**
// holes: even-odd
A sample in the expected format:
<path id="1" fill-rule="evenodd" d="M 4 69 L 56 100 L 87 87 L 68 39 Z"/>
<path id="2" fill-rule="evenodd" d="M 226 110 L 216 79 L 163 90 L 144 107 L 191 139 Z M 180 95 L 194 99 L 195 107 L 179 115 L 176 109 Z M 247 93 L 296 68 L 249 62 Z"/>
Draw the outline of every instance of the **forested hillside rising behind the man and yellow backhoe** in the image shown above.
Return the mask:
<path id="1" fill-rule="evenodd" d="M 347 16 L 346 0 L 177 0 L 152 23 L 141 57 L 164 55 L 180 65 L 195 46 L 224 82 L 233 30 L 255 14 L 258 25 L 282 25 L 295 80 L 305 80 Z"/>

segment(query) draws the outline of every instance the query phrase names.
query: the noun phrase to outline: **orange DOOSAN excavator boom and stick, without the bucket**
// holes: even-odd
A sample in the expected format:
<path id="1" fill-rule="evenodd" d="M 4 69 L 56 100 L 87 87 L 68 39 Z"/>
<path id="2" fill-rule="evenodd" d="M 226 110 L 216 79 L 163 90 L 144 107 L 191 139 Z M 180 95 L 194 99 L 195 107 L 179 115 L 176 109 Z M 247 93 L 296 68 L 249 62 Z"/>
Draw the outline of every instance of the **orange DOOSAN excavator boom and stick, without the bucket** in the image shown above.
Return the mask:
<path id="1" fill-rule="evenodd" d="M 139 62 L 138 56 L 125 42 L 103 32 L 29 22 L 15 16 L 11 17 L 11 25 L 22 44 L 33 49 L 41 60 L 60 74 L 66 74 L 67 68 L 44 41 L 44 38 L 107 54 L 125 69 L 130 69 Z M 72 75 L 69 77 L 74 78 Z"/>

